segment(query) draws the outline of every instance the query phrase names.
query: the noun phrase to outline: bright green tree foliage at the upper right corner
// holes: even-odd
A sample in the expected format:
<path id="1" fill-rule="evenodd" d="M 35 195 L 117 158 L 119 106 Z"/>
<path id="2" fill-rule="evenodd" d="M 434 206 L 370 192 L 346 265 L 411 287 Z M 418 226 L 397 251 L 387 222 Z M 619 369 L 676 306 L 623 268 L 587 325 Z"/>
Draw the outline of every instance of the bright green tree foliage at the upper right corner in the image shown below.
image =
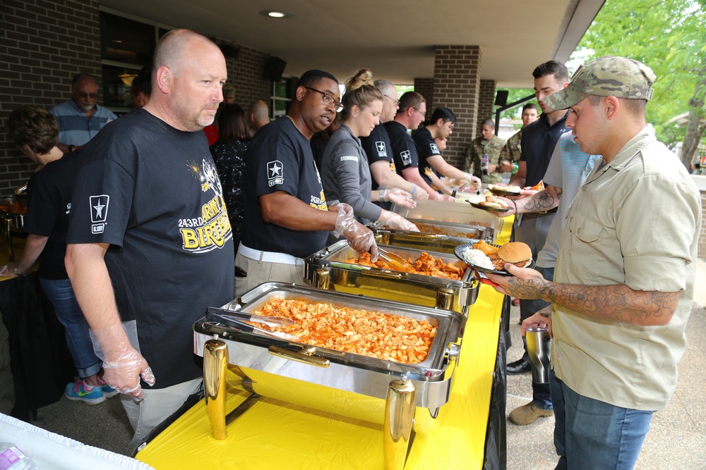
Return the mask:
<path id="1" fill-rule="evenodd" d="M 672 149 L 683 142 L 686 166 L 706 130 L 705 31 L 706 0 L 607 0 L 577 47 L 586 60 L 627 56 L 654 70 L 647 120 Z M 684 113 L 686 127 L 669 122 Z"/>

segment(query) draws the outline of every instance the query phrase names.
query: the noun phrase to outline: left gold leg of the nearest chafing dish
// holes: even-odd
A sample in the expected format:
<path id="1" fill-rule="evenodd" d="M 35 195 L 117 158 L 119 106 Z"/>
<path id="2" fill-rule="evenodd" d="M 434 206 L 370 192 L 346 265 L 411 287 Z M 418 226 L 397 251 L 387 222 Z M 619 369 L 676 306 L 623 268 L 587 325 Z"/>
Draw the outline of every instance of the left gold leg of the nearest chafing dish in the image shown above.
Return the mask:
<path id="1" fill-rule="evenodd" d="M 203 345 L 203 390 L 206 413 L 213 429 L 213 438 L 228 437 L 225 424 L 225 372 L 228 365 L 228 345 L 222 340 L 208 340 Z"/>

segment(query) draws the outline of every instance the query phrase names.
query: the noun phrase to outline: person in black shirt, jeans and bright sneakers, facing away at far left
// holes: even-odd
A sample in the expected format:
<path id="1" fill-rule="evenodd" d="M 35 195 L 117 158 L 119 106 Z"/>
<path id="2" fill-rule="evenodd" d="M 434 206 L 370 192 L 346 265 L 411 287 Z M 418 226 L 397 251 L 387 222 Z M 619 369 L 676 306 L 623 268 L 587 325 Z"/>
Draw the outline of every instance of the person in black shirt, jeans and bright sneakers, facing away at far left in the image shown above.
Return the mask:
<path id="1" fill-rule="evenodd" d="M 88 404 L 104 402 L 118 392 L 102 380 L 102 361 L 93 351 L 88 323 L 73 295 L 64 267 L 71 189 L 80 166 L 77 152 L 64 154 L 59 142 L 56 118 L 39 106 L 22 106 L 10 114 L 8 132 L 39 170 L 28 183 L 28 211 L 23 230 L 28 234 L 22 258 L 1 268 L 0 276 L 25 276 L 37 259 L 37 276 L 64 325 L 66 345 L 79 380 L 66 385 L 69 400 Z"/>

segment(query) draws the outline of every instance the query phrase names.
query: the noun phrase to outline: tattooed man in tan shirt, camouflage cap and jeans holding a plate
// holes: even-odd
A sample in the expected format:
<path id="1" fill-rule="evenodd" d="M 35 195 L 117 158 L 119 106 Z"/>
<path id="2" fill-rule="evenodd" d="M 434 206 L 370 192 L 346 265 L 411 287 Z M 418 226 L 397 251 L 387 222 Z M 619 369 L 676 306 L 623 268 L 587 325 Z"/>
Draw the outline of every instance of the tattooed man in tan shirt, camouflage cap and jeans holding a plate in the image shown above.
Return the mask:
<path id="1" fill-rule="evenodd" d="M 694 292 L 700 194 L 645 121 L 652 70 L 601 57 L 545 98 L 599 154 L 566 216 L 554 282 L 505 265 L 501 292 L 551 307 L 522 323 L 549 326 L 557 469 L 632 469 L 652 413 L 676 388 Z"/>

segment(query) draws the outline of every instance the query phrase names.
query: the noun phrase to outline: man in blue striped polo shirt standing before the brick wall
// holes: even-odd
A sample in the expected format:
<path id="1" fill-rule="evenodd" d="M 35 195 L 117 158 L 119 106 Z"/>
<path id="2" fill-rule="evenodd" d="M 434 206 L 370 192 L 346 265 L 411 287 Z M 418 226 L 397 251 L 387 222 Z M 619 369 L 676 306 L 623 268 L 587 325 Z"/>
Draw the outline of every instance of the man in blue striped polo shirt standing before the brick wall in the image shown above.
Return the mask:
<path id="1" fill-rule="evenodd" d="M 71 82 L 71 99 L 49 110 L 59 123 L 59 149 L 78 150 L 104 125 L 118 117 L 98 101 L 98 80 L 90 73 L 79 73 Z"/>

